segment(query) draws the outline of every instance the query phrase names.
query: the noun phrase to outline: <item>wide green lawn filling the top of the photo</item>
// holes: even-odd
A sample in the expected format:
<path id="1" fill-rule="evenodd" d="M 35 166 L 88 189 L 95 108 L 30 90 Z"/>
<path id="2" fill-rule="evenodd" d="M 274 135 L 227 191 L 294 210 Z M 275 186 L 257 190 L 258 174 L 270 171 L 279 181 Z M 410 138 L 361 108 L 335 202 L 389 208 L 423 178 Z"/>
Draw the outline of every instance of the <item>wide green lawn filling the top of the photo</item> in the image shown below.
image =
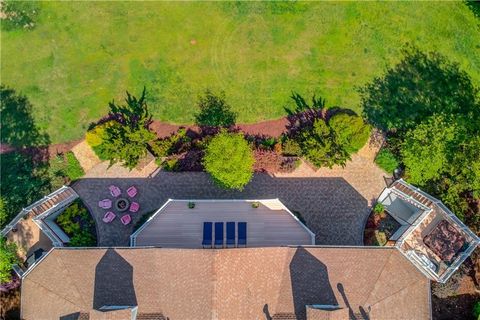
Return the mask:
<path id="1" fill-rule="evenodd" d="M 80 138 L 126 89 L 156 119 L 193 121 L 206 88 L 239 122 L 284 115 L 293 91 L 359 110 L 356 88 L 410 42 L 480 82 L 480 27 L 462 2 L 41 3 L 37 27 L 1 33 L 1 82 L 28 96 L 52 142 Z"/>

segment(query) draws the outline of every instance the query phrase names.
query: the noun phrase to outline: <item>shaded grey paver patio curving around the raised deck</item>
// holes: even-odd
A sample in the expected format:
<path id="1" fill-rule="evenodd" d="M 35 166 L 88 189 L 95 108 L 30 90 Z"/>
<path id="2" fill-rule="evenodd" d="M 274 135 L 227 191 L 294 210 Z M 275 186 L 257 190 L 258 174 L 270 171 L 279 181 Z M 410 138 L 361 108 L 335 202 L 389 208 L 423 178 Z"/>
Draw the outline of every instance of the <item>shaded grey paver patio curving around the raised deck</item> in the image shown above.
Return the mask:
<path id="1" fill-rule="evenodd" d="M 115 184 L 123 192 L 138 188 L 136 201 L 140 211 L 123 226 L 119 219 L 106 224 L 105 210 L 98 201 L 108 196 L 108 186 Z M 322 245 L 362 245 L 363 228 L 368 216 L 368 201 L 341 177 L 271 177 L 256 174 L 243 191 L 218 188 L 202 172 L 160 172 L 153 178 L 85 178 L 73 185 L 96 222 L 99 246 L 126 246 L 133 225 L 140 216 L 160 208 L 171 199 L 272 199 L 279 198 L 290 210 L 304 217 L 307 226 Z"/>

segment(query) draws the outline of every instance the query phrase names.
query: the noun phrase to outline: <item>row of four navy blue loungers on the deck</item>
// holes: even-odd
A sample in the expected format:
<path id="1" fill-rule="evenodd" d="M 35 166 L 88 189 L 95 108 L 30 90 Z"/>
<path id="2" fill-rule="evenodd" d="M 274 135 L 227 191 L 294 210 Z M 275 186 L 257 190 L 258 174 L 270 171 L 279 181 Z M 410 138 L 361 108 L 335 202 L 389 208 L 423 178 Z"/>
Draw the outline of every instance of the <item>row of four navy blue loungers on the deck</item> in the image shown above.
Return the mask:
<path id="1" fill-rule="evenodd" d="M 213 223 L 212 222 L 204 222 L 203 223 L 203 241 L 202 246 L 203 248 L 228 248 L 228 247 L 239 247 L 245 246 L 247 247 L 247 223 L 246 222 L 238 222 L 238 234 L 237 239 L 235 242 L 235 222 L 227 222 L 227 236 L 226 236 L 226 243 L 224 244 L 223 239 L 223 230 L 224 230 L 224 223 L 223 222 L 215 222 L 215 241 L 213 241 L 212 233 L 213 233 Z"/>

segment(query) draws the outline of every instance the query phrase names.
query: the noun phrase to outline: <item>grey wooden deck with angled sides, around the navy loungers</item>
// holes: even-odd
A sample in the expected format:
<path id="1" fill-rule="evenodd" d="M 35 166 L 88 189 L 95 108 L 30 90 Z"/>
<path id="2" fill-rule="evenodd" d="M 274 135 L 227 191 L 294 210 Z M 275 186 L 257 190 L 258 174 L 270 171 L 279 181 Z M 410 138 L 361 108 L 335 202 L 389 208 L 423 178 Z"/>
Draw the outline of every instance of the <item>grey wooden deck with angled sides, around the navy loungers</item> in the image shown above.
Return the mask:
<path id="1" fill-rule="evenodd" d="M 203 222 L 247 222 L 247 247 L 310 245 L 314 237 L 278 200 L 172 200 L 136 234 L 136 246 L 202 248 Z M 224 236 L 225 236 L 224 229 Z M 214 235 L 213 235 L 214 237 Z M 224 241 L 225 243 L 225 241 Z"/>

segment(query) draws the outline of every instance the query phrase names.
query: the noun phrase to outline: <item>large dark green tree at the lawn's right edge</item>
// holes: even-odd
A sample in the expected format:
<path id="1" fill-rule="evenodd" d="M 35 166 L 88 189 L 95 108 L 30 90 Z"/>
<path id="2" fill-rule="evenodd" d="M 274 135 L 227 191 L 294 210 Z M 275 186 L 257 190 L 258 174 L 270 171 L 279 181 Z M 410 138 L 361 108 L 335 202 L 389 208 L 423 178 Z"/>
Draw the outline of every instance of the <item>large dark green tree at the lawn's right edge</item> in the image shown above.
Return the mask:
<path id="1" fill-rule="evenodd" d="M 359 93 L 364 117 L 383 130 L 406 131 L 436 113 L 480 120 L 478 88 L 470 76 L 445 56 L 410 45 L 397 65 Z"/>

